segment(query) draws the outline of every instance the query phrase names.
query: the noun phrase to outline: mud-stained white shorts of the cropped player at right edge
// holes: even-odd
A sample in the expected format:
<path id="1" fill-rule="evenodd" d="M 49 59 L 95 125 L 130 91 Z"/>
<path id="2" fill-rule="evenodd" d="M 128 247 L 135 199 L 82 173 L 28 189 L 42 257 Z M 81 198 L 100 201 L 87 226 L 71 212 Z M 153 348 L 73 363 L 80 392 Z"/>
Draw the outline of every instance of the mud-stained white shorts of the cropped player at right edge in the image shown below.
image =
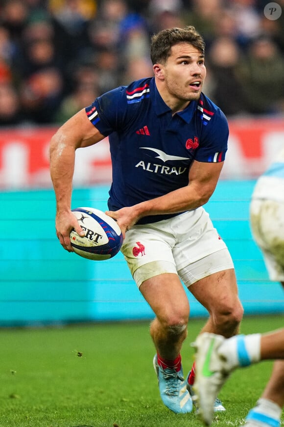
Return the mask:
<path id="1" fill-rule="evenodd" d="M 253 199 L 250 223 L 270 280 L 284 282 L 284 203 Z"/>

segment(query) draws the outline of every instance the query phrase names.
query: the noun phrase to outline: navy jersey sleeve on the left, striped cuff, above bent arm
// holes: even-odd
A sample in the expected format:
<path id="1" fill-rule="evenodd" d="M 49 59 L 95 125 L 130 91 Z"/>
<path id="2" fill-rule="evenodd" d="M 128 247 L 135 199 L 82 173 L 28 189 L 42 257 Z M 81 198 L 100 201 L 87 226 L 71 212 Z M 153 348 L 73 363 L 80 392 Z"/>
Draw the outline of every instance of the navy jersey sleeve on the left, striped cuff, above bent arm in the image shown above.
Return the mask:
<path id="1" fill-rule="evenodd" d="M 125 88 L 120 86 L 95 99 L 85 108 L 88 119 L 104 136 L 119 131 L 125 120 Z"/>

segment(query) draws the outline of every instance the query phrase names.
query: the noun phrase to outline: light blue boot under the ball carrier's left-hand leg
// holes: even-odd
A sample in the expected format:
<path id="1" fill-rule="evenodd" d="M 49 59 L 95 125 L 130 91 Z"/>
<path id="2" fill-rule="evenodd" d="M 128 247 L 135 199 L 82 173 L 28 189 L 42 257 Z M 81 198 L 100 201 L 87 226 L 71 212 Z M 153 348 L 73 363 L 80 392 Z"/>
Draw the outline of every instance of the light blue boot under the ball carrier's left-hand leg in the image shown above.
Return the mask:
<path id="1" fill-rule="evenodd" d="M 188 413 L 192 411 L 192 400 L 187 390 L 183 375 L 183 369 L 163 369 L 158 365 L 157 354 L 153 359 L 153 365 L 158 377 L 160 395 L 163 403 L 168 409 L 176 414 Z"/>

